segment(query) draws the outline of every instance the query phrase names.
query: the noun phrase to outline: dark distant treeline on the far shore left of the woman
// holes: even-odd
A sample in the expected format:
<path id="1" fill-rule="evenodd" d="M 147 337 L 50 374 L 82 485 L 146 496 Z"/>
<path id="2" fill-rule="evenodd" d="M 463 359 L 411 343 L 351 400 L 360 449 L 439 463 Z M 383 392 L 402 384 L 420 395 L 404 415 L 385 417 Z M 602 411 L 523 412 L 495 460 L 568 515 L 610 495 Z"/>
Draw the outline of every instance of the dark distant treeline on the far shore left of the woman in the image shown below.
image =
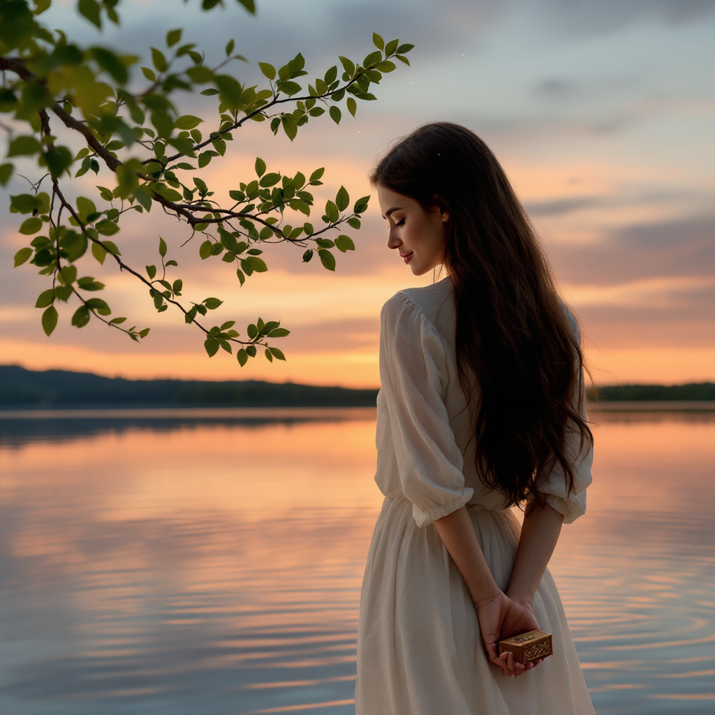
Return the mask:
<path id="1" fill-rule="evenodd" d="M 124 380 L 0 365 L 0 408 L 375 407 L 378 390 L 233 380 Z"/>

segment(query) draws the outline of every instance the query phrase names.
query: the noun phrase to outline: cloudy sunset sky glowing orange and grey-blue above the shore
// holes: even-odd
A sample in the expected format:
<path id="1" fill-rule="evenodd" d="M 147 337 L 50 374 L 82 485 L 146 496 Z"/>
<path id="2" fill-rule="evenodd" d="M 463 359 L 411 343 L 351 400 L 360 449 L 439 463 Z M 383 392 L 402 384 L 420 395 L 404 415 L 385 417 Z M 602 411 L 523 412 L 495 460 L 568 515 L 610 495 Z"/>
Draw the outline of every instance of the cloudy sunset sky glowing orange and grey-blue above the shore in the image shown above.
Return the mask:
<path id="1" fill-rule="evenodd" d="M 715 380 L 715 1 L 257 0 L 256 17 L 225 3 L 202 13 L 196 0 L 122 0 L 122 29 L 103 37 L 74 16 L 74 2 L 43 18 L 82 44 L 137 54 L 183 26 L 184 40 L 206 49 L 209 64 L 233 37 L 250 64 L 235 62 L 232 71 L 251 84 L 261 81 L 257 61 L 284 64 L 297 51 L 309 72 L 302 79 L 322 77 L 338 54 L 368 54 L 373 31 L 415 44 L 412 66 L 385 75 L 373 87 L 379 101 L 360 103 L 357 119 L 343 111 L 340 126 L 327 115 L 311 120 L 293 143 L 250 122 L 234 133 L 225 159 L 200 175 L 227 196 L 254 178 L 257 155 L 269 171 L 287 174 L 324 166 L 310 219 L 317 225 L 340 184 L 351 203 L 370 193 L 367 174 L 390 141 L 424 122 L 460 122 L 492 147 L 526 204 L 561 292 L 581 319 L 596 381 Z M 138 72 L 134 79 L 139 84 Z M 184 111 L 211 117 L 212 98 L 194 105 L 183 99 Z M 207 133 L 209 123 L 202 127 Z M 92 195 L 94 184 L 112 186 L 109 172 L 71 182 L 74 195 Z M 14 177 L 9 192 L 25 187 Z M 187 302 L 220 297 L 215 322 L 237 320 L 239 329 L 258 315 L 282 320 L 292 335 L 275 345 L 287 363 L 259 357 L 240 369 L 223 351 L 209 360 L 199 331 L 174 310 L 157 315 L 136 280 L 89 255 L 80 275 L 106 282 L 101 295 L 113 315 L 151 327 L 149 337 L 137 345 L 96 321 L 77 330 L 69 325 L 74 307 L 64 307 L 47 338 L 32 307 L 46 279 L 34 267 L 12 268 L 26 239 L 16 232 L 6 193 L 1 363 L 124 377 L 373 386 L 380 306 L 402 287 L 432 281 L 431 274 L 414 277 L 385 247 L 374 196 L 362 230 L 351 232 L 357 250 L 337 255 L 334 274 L 317 260 L 302 264 L 302 249 L 270 247 L 270 270 L 242 288 L 235 264 L 199 259 L 197 239 L 179 247 L 189 230 L 155 207 L 149 217 L 122 223 L 117 243 L 127 263 L 156 263 L 162 235 L 179 262 L 171 277 L 184 280 Z"/>

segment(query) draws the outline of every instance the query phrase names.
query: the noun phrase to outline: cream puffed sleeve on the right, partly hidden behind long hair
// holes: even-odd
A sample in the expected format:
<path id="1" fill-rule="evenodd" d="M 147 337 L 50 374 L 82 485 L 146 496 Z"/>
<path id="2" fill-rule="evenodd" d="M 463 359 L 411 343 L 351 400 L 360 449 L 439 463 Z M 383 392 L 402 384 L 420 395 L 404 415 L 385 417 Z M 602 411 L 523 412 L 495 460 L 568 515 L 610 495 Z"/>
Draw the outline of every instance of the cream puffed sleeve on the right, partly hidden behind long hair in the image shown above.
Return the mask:
<path id="1" fill-rule="evenodd" d="M 574 331 L 578 340 L 581 335 L 578 332 L 576 320 L 570 312 L 567 311 L 568 320 L 571 323 L 571 329 Z M 580 374 L 579 392 L 585 394 L 583 370 L 577 366 Z M 573 407 L 578 409 L 578 395 L 574 395 Z M 581 417 L 586 420 L 586 400 L 581 404 Z M 545 496 L 546 503 L 552 506 L 558 513 L 563 514 L 563 523 L 570 524 L 586 513 L 586 488 L 591 485 L 591 466 L 593 465 L 593 449 L 591 445 L 581 445 L 581 433 L 570 425 L 566 433 L 566 459 L 573 464 L 573 490 L 568 495 L 566 494 L 566 477 L 563 473 L 563 467 L 556 464 L 551 473 L 546 479 L 538 483 L 538 490 Z"/>

